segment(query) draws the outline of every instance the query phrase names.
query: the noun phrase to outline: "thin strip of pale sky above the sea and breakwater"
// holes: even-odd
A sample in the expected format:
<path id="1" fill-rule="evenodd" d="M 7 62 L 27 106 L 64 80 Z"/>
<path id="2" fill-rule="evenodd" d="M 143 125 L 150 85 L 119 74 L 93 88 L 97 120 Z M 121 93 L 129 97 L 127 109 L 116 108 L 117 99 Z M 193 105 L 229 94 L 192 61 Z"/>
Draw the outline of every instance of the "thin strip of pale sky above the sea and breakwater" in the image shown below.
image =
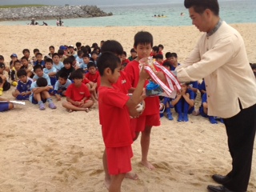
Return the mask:
<path id="1" fill-rule="evenodd" d="M 183 2 L 182 0 L 158 0 L 157 3 L 170 3 L 170 2 Z M 143 4 L 143 3 L 156 3 L 156 0 L 0 0 L 0 5 L 20 5 L 20 4 L 45 4 L 64 6 L 68 4 L 70 6 L 78 5 L 94 5 L 94 6 L 106 6 L 106 5 L 128 5 L 128 4 Z"/>

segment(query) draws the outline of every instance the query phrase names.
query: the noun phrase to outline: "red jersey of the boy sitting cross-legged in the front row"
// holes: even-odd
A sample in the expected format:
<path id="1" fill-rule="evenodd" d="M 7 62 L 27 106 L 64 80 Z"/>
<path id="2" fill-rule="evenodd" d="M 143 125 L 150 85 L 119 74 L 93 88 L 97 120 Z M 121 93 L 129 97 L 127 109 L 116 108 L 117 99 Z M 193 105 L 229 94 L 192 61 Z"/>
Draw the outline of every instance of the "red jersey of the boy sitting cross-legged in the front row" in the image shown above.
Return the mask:
<path id="1" fill-rule="evenodd" d="M 72 83 L 66 89 L 66 97 L 71 98 L 74 102 L 80 102 L 83 98 L 90 98 L 90 91 L 83 83 L 79 87 L 74 86 L 74 83 Z"/>

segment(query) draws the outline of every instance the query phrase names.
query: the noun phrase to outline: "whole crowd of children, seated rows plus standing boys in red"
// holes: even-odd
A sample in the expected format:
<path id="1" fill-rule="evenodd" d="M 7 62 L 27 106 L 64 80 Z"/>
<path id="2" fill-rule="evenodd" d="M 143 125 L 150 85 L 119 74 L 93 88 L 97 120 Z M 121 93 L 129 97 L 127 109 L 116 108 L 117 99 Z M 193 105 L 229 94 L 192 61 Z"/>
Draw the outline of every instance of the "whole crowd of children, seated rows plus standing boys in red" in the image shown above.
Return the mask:
<path id="1" fill-rule="evenodd" d="M 150 133 L 153 126 L 160 126 L 161 117 L 174 120 L 172 114 L 176 112 L 178 122 L 188 122 L 188 114 L 200 114 L 209 118 L 213 124 L 222 122 L 222 118 L 207 115 L 207 94 L 203 79 L 200 82 L 181 82 L 182 90 L 178 91 L 176 98 L 146 97 L 143 94 L 148 74 L 143 69 L 139 70 L 140 59 L 152 56 L 170 71 L 180 65 L 176 53 L 166 52 L 164 59 L 163 49 L 161 44 L 153 46 L 153 36 L 149 32 L 140 31 L 134 36 L 134 48 L 130 50 L 129 58 L 122 45 L 114 40 L 102 41 L 100 47 L 97 43 L 90 47 L 77 42 L 76 48 L 72 45 L 59 46 L 58 51 L 50 46 L 46 56 L 34 49 L 34 56 L 31 57 L 30 50 L 24 49 L 22 58 L 18 59 L 17 54 L 10 55 L 9 65 L 0 55 L 0 96 L 3 91 L 15 86 L 13 97 L 29 100 L 37 104 L 39 110 L 46 110 L 46 102 L 54 110 L 56 106 L 53 98 L 61 101 L 62 97 L 66 97 L 62 106 L 69 112 L 88 112 L 94 102 L 98 102 L 106 146 L 103 154 L 105 183 L 110 191 L 118 191 L 123 178 L 138 178 L 131 172 L 130 158 L 133 154 L 130 145 L 140 133 L 141 163 L 150 170 L 154 169 L 147 157 Z M 251 66 L 253 70 L 256 69 L 255 64 Z M 132 94 L 132 97 L 128 94 Z M 197 94 L 201 94 L 202 105 L 195 110 Z M 138 112 L 136 106 L 142 100 L 146 108 Z M 0 101 L 0 111 L 14 108 L 6 99 L 0 98 Z M 113 118 L 116 115 L 118 118 Z"/>

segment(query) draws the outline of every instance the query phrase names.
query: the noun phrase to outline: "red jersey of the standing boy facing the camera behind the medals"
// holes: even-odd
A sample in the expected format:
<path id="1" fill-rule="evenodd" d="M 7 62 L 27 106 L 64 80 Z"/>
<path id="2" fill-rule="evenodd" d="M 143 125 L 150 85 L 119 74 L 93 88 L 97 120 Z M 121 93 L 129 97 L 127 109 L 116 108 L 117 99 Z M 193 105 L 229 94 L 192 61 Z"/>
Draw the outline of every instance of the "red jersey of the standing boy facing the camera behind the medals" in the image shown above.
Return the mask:
<path id="1" fill-rule="evenodd" d="M 126 76 L 130 81 L 132 87 L 137 87 L 139 80 L 139 63 L 136 60 L 129 62 L 126 66 Z M 144 87 L 149 83 L 149 81 L 145 82 Z M 145 110 L 142 115 L 150 115 L 150 114 L 159 114 L 159 98 L 158 97 L 146 97 L 145 101 Z"/>

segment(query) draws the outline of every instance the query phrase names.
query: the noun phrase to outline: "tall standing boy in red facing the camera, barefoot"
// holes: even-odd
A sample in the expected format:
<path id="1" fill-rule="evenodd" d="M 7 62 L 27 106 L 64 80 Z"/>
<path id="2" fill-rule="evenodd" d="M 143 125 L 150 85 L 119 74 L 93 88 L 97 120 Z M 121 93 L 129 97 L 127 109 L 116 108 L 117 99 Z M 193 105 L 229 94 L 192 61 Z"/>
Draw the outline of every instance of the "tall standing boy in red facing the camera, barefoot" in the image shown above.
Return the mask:
<path id="1" fill-rule="evenodd" d="M 138 57 L 126 66 L 126 74 L 133 87 L 138 86 L 139 80 L 139 60 L 150 56 L 150 52 L 153 46 L 153 36 L 149 32 L 140 31 L 134 36 L 134 50 L 137 51 Z M 146 84 L 148 81 L 146 81 Z M 160 126 L 159 115 L 159 98 L 147 97 L 145 98 L 145 110 L 139 118 L 131 119 L 131 124 L 134 126 L 136 137 L 138 138 L 139 132 L 142 132 L 141 146 L 142 146 L 142 165 L 146 166 L 150 170 L 154 169 L 154 166 L 148 162 L 147 155 L 150 148 L 150 132 L 152 126 Z"/>

